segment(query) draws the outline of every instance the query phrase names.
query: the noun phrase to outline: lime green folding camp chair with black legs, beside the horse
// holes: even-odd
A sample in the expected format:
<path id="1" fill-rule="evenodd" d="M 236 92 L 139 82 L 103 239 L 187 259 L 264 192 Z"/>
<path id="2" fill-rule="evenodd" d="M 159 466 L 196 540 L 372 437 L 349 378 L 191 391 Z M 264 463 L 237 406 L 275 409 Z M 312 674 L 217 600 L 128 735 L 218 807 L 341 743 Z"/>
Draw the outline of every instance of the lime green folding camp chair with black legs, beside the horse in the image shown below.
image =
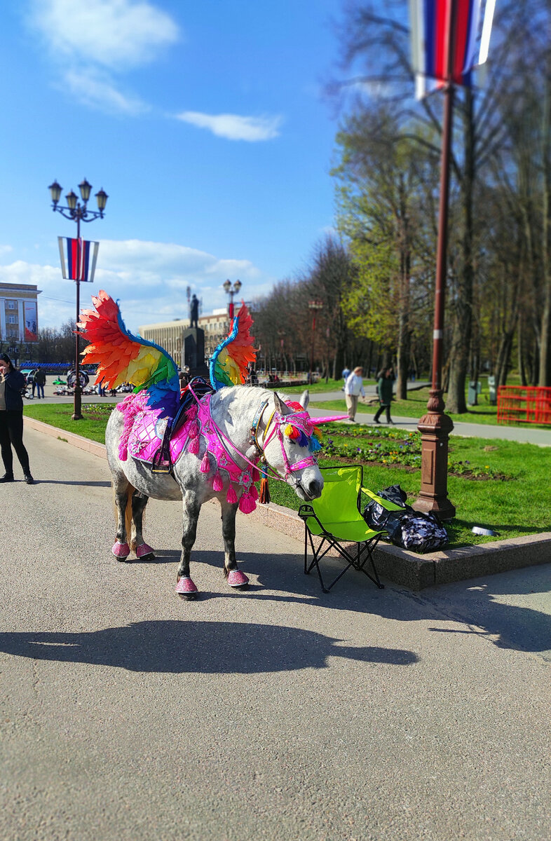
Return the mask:
<path id="1" fill-rule="evenodd" d="M 321 497 L 312 500 L 309 505 L 300 505 L 299 508 L 299 517 L 305 524 L 305 574 L 309 574 L 315 567 L 320 578 L 321 590 L 328 593 L 347 569 L 353 567 L 366 574 L 368 579 L 379 587 L 379 590 L 383 590 L 384 584 L 379 581 L 373 550 L 384 532 L 374 532 L 370 529 L 360 512 L 360 492 L 363 489 L 361 465 L 321 468 L 321 475 L 324 481 Z M 400 507 L 388 500 L 381 500 L 379 496 L 367 489 L 363 490 L 389 510 Z M 318 538 L 319 542 L 317 542 Z M 346 547 L 347 543 L 355 543 L 355 551 Z M 309 544 L 313 555 L 311 561 L 309 561 Z M 321 577 L 320 561 L 331 548 L 336 549 L 347 561 L 347 566 L 326 587 Z M 365 569 L 366 563 L 370 564 L 373 575 Z"/>

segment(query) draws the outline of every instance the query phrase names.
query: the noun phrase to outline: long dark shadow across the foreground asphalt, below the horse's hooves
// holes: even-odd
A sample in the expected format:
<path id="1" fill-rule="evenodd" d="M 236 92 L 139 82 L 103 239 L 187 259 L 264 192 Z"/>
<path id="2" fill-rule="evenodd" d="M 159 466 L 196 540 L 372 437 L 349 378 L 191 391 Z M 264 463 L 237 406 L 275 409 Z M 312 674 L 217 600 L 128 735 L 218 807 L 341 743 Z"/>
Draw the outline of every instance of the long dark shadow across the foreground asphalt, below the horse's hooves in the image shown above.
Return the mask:
<path id="1" fill-rule="evenodd" d="M 0 651 L 36 660 L 133 672 L 257 674 L 325 669 L 329 657 L 411 665 L 401 648 L 355 647 L 293 627 L 241 622 L 140 621 L 93 632 L 0 633 Z"/>

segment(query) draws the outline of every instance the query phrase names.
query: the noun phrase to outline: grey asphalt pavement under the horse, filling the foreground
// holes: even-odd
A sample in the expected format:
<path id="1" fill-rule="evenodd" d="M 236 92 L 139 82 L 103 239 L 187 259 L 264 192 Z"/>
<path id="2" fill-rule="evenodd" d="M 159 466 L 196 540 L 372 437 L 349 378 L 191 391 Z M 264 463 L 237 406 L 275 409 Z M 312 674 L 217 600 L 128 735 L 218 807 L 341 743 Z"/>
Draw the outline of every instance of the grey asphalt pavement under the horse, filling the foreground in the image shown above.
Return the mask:
<path id="1" fill-rule="evenodd" d="M 117 563 L 107 464 L 25 440 L 37 484 L 0 492 L 0 838 L 547 841 L 551 565 L 323 595 L 301 543 L 238 515 L 234 592 L 211 504 L 183 602 L 179 504 L 148 509 L 155 562 Z"/>

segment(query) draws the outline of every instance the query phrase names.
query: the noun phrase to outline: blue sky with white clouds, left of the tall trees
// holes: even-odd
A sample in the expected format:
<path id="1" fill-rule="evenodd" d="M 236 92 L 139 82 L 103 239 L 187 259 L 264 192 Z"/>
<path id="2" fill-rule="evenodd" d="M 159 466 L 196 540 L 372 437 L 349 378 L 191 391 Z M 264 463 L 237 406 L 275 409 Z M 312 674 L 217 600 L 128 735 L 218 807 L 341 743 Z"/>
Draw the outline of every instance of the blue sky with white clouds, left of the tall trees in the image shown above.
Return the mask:
<path id="1" fill-rule="evenodd" d="M 53 213 L 86 177 L 109 193 L 82 226 L 93 284 L 130 330 L 225 305 L 226 278 L 265 294 L 304 267 L 333 223 L 342 0 L 8 0 L 0 27 L 0 281 L 37 283 L 41 327 L 75 314 Z M 65 201 L 63 201 L 65 204 Z M 96 207 L 95 199 L 90 207 Z"/>

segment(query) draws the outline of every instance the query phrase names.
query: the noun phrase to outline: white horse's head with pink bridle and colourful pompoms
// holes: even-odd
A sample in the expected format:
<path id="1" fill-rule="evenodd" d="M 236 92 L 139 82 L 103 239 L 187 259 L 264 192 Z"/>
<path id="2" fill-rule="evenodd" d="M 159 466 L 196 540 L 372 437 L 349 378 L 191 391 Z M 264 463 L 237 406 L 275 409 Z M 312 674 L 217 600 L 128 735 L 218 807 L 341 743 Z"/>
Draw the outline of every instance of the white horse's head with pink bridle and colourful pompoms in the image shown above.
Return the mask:
<path id="1" fill-rule="evenodd" d="M 315 453 L 320 449 L 315 421 L 305 411 L 308 392 L 300 404 L 286 405 L 274 392 L 274 410 L 264 431 L 263 450 L 268 464 L 294 488 L 301 500 L 321 496 L 323 477 Z"/>

